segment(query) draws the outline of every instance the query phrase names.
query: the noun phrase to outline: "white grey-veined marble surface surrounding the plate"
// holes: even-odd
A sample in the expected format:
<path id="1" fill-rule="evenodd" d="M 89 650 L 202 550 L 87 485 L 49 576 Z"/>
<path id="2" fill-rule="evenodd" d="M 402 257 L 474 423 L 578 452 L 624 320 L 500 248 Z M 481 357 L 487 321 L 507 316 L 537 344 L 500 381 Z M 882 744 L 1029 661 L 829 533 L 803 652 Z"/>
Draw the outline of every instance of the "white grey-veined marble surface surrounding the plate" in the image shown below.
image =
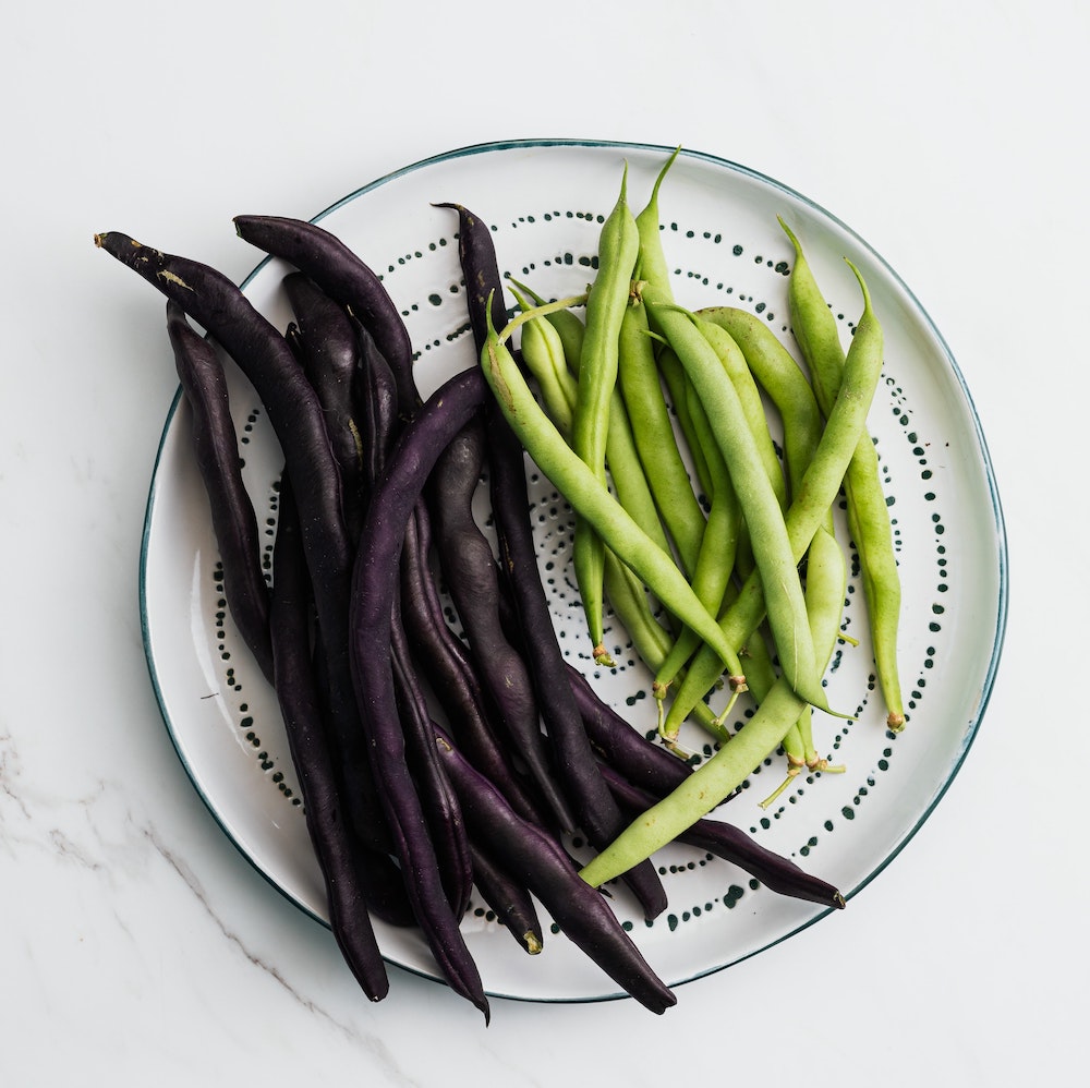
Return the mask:
<path id="1" fill-rule="evenodd" d="M 4 1085 L 1020 1085 L 1080 1052 L 1080 561 L 1090 232 L 1075 2 L 17 5 L 4 21 L 0 1079 Z M 68 10 L 65 10 L 68 9 Z M 849 909 L 634 1002 L 362 1000 L 170 746 L 137 613 L 175 379 L 123 230 L 235 279 L 310 217 L 519 136 L 710 152 L 882 253 L 949 342 L 1007 519 L 1003 665 L 966 765 Z M 135 364 L 162 359 L 161 367 Z M 593 1071 L 593 1072 L 592 1072 Z"/>

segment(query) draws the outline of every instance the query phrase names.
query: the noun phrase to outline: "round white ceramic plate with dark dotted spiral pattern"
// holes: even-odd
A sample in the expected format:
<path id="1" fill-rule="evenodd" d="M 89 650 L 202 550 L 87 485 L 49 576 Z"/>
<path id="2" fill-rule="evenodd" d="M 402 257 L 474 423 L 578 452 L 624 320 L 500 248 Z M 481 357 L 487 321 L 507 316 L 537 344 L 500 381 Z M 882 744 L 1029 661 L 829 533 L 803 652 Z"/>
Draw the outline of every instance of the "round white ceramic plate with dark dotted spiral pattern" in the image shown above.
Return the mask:
<path id="1" fill-rule="evenodd" d="M 622 164 L 629 165 L 630 204 L 639 210 L 669 150 L 571 141 L 470 147 L 383 178 L 316 218 L 385 277 L 417 350 L 419 384 L 426 395 L 473 362 L 457 217 L 432 205 L 468 206 L 494 226 L 500 268 L 541 294 L 559 298 L 578 293 L 592 277 L 601 217 L 616 198 Z M 776 222 L 783 216 L 841 317 L 845 338 L 860 305 L 845 255 L 867 278 L 884 324 L 886 365 L 871 430 L 888 481 L 905 584 L 900 664 L 908 727 L 898 736 L 884 727 L 872 690 L 862 593 L 853 583 L 847 622 L 861 644 L 839 655 L 829 675 L 829 702 L 862 712 L 851 723 L 823 715 L 815 723 L 819 746 L 846 764 L 846 773 L 799 777 L 765 811 L 756 802 L 783 774 L 774 762 L 726 812 L 850 899 L 932 811 L 965 759 L 988 701 L 1006 613 L 1006 569 L 984 440 L 941 335 L 898 277 L 844 223 L 778 182 L 691 152 L 670 171 L 661 211 L 675 293 L 689 307 L 746 306 L 786 339 L 792 254 Z M 255 305 L 281 328 L 289 321 L 280 292 L 284 271 L 278 262 L 265 261 L 245 283 Z M 246 479 L 261 516 L 269 513 L 271 547 L 269 496 L 279 450 L 252 390 L 238 375 L 232 382 Z M 322 884 L 279 712 L 225 614 L 207 505 L 187 444 L 186 410 L 177 401 L 155 467 L 141 572 L 155 688 L 179 755 L 223 830 L 276 887 L 324 920 Z M 552 505 L 547 484 L 534 486 L 535 497 Z M 543 561 L 562 563 L 566 527 L 562 508 L 542 524 Z M 594 669 L 572 611 L 574 594 L 562 578 L 554 584 L 566 652 L 634 726 L 652 727 L 645 672 L 627 657 L 615 673 Z M 704 742 L 702 735 L 686 736 L 695 747 Z M 827 914 L 778 897 L 695 851 L 670 848 L 658 860 L 670 900 L 663 917 L 646 924 L 622 893 L 614 902 L 670 984 L 737 963 Z M 840 917 L 850 923 L 850 905 Z M 619 995 L 560 935 L 547 936 L 545 951 L 529 957 L 484 910 L 471 910 L 463 924 L 494 995 L 536 1001 Z M 390 962 L 437 977 L 414 932 L 379 927 L 379 940 Z"/>

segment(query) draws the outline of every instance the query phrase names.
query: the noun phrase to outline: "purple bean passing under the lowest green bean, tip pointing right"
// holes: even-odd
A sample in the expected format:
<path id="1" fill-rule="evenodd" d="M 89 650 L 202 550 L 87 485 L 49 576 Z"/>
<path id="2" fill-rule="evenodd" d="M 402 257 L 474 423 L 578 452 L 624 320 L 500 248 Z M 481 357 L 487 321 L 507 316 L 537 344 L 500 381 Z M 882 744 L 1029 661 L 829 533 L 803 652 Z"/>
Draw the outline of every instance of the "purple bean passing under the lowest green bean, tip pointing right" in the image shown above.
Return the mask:
<path id="1" fill-rule="evenodd" d="M 630 813 L 646 812 L 655 803 L 657 798 L 633 786 L 611 767 L 604 766 L 603 774 Z M 678 836 L 677 842 L 730 861 L 780 895 L 837 909 L 845 905 L 844 896 L 832 884 L 811 877 L 794 861 L 760 846 L 746 832 L 722 820 L 698 820 Z"/>

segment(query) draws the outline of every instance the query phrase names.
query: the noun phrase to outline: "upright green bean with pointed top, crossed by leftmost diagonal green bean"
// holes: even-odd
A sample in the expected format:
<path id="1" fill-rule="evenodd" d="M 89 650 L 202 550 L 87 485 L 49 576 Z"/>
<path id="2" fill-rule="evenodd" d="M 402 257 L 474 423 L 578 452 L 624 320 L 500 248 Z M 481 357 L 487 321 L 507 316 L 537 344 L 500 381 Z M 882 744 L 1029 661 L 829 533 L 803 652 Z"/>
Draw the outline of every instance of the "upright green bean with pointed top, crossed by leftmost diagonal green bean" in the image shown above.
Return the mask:
<path id="1" fill-rule="evenodd" d="M 617 343 L 640 249 L 635 220 L 626 198 L 627 185 L 626 166 L 620 194 L 603 223 L 598 239 L 598 271 L 586 300 L 579 399 L 571 431 L 572 449 L 603 484 L 606 481 L 609 401 L 617 385 Z M 594 660 L 609 665 L 611 662 L 603 645 L 602 624 L 604 544 L 581 517 L 576 518 L 572 560 L 594 646 Z"/>

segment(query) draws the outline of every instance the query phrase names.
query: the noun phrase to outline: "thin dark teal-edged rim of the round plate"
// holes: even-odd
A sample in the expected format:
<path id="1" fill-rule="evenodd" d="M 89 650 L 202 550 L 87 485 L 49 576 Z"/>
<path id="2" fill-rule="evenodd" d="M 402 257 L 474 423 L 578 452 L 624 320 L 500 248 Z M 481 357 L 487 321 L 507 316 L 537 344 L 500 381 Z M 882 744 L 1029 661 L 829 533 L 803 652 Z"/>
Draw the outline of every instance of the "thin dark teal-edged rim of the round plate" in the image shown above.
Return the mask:
<path id="1" fill-rule="evenodd" d="M 950 765 L 949 773 L 946 775 L 945 781 L 942 782 L 936 789 L 935 794 L 921 810 L 916 821 L 905 832 L 901 838 L 895 844 L 895 846 L 885 855 L 884 858 L 879 861 L 875 867 L 850 891 L 845 893 L 846 899 L 851 899 L 860 892 L 863 891 L 876 877 L 886 870 L 886 868 L 900 855 L 906 846 L 916 837 L 920 829 L 934 813 L 935 808 L 938 806 L 940 801 L 946 796 L 950 786 L 953 785 L 955 778 L 958 776 L 961 767 L 965 764 L 970 749 L 979 735 L 980 727 L 983 723 L 984 714 L 989 708 L 991 696 L 995 685 L 995 678 L 998 672 L 1000 662 L 1003 653 L 1003 645 L 1006 637 L 1006 625 L 1007 616 L 1009 609 L 1009 555 L 1008 555 L 1008 541 L 1006 532 L 1006 523 L 1003 512 L 1003 504 L 1000 497 L 998 484 L 995 476 L 995 471 L 989 450 L 988 442 L 984 436 L 983 424 L 980 419 L 980 414 L 977 411 L 976 403 L 973 401 L 972 395 L 969 390 L 968 384 L 958 365 L 957 359 L 954 355 L 946 338 L 943 336 L 941 330 L 935 325 L 931 317 L 931 314 L 927 307 L 920 302 L 916 293 L 908 287 L 908 285 L 901 279 L 898 273 L 889 265 L 889 263 L 879 253 L 873 245 L 871 245 L 865 239 L 858 234 L 851 227 L 844 222 L 838 216 L 831 213 L 823 205 L 800 193 L 798 190 L 785 184 L 770 174 L 763 173 L 751 167 L 744 166 L 740 162 L 736 162 L 731 159 L 724 158 L 718 155 L 714 155 L 707 152 L 702 152 L 695 148 L 688 148 L 685 146 L 670 146 L 665 144 L 656 143 L 643 143 L 633 142 L 626 140 L 595 140 L 591 137 L 519 137 L 510 140 L 497 140 L 497 141 L 486 141 L 474 144 L 467 144 L 447 152 L 440 152 L 435 155 L 427 156 L 422 159 L 417 159 L 407 166 L 399 167 L 395 170 L 388 171 L 373 181 L 367 182 L 352 190 L 347 195 L 335 201 L 332 204 L 328 205 L 322 211 L 311 217 L 310 222 L 317 223 L 325 219 L 330 214 L 335 213 L 341 207 L 352 203 L 353 201 L 360 198 L 366 193 L 373 192 L 380 189 L 387 184 L 398 181 L 399 179 L 416 173 L 421 170 L 427 169 L 429 167 L 439 166 L 444 162 L 455 161 L 458 159 L 469 158 L 477 155 L 493 154 L 499 152 L 510 152 L 510 150 L 531 150 L 531 149 L 548 149 L 548 148 L 570 148 L 570 149 L 593 149 L 593 150 L 635 150 L 640 153 L 656 153 L 661 155 L 669 155 L 675 150 L 678 152 L 679 158 L 693 159 L 699 162 L 703 162 L 715 167 L 716 169 L 726 170 L 731 173 L 740 174 L 743 178 L 755 181 L 762 185 L 771 186 L 774 190 L 778 190 L 786 196 L 790 197 L 792 201 L 801 203 L 803 206 L 808 207 L 811 211 L 816 214 L 819 217 L 826 219 L 828 222 L 833 223 L 837 229 L 844 231 L 852 242 L 858 245 L 861 250 L 865 251 L 872 261 L 874 261 L 883 270 L 883 273 L 891 278 L 898 290 L 903 291 L 905 297 L 913 306 L 918 317 L 925 325 L 928 333 L 934 338 L 935 344 L 940 349 L 943 360 L 948 367 L 950 374 L 953 375 L 957 386 L 961 392 L 965 400 L 965 407 L 967 409 L 968 416 L 972 424 L 972 434 L 976 439 L 976 448 L 979 452 L 981 459 L 981 468 L 983 469 L 984 482 L 986 484 L 988 497 L 991 504 L 992 516 L 993 516 L 993 529 L 994 529 L 994 557 L 996 563 L 996 612 L 995 612 L 995 630 L 991 645 L 991 652 L 989 656 L 988 667 L 984 670 L 984 675 L 981 680 L 980 698 L 974 705 L 974 712 L 972 714 L 971 721 L 966 724 L 965 732 L 962 733 L 961 749 L 957 753 L 956 759 Z M 271 256 L 263 256 L 257 264 L 251 269 L 245 277 L 240 280 L 239 286 L 241 289 L 245 288 L 253 281 L 253 279 L 263 270 L 263 268 L 274 258 Z M 171 722 L 171 716 L 167 708 L 166 693 L 162 690 L 160 684 L 159 670 L 156 666 L 155 654 L 152 648 L 152 629 L 148 617 L 148 584 L 147 584 L 147 565 L 148 565 L 148 549 L 149 549 L 149 537 L 152 534 L 152 523 L 154 520 L 154 513 L 156 508 L 157 499 L 157 484 L 159 479 L 159 470 L 165 455 L 166 444 L 168 436 L 171 431 L 171 426 L 174 422 L 174 416 L 177 415 L 179 408 L 183 401 L 183 392 L 181 385 L 175 389 L 174 396 L 171 400 L 170 407 L 167 412 L 166 420 L 158 439 L 158 445 L 156 448 L 155 458 L 152 466 L 150 482 L 148 486 L 147 500 L 144 509 L 144 520 L 143 530 L 141 535 L 141 547 L 140 547 L 140 565 L 138 565 L 138 607 L 140 607 L 140 624 L 141 624 L 141 641 L 144 650 L 144 656 L 148 668 L 148 676 L 152 681 L 152 687 L 155 692 L 155 698 L 159 706 L 159 713 L 162 718 L 162 724 L 166 728 L 167 735 L 170 738 L 171 746 L 174 749 L 174 753 L 179 759 L 185 770 L 186 776 L 190 779 L 191 786 L 196 790 L 197 796 L 201 798 L 206 809 L 211 814 L 216 824 L 223 832 L 227 839 L 234 846 L 235 850 L 246 860 L 246 862 L 254 869 L 267 884 L 276 888 L 276 891 L 283 896 L 289 903 L 295 906 L 305 916 L 317 921 L 325 928 L 329 928 L 327 919 L 323 918 L 320 915 L 316 914 L 311 907 L 300 899 L 298 896 L 293 895 L 287 887 L 279 883 L 270 872 L 263 868 L 257 859 L 254 858 L 247 850 L 245 850 L 242 844 L 239 842 L 237 836 L 228 827 L 225 819 L 219 813 L 213 799 L 208 796 L 207 790 L 202 785 L 201 778 L 197 775 L 195 769 L 187 759 L 182 746 L 180 738 L 178 736 L 177 729 Z M 753 956 L 765 952 L 776 945 L 796 936 L 798 933 L 811 926 L 821 921 L 823 918 L 827 917 L 833 912 L 833 908 L 826 907 L 820 911 L 816 911 L 812 917 L 804 919 L 797 927 L 789 929 L 788 931 L 778 934 L 766 943 L 762 944 L 760 947 L 752 948 L 749 952 L 736 956 L 724 964 L 713 964 L 704 970 L 687 972 L 686 978 L 675 982 L 675 986 L 681 986 L 686 982 L 695 981 L 697 979 L 706 978 L 710 975 L 718 974 L 719 971 L 726 970 L 737 964 L 743 963 Z M 402 963 L 399 959 L 392 958 L 387 953 L 383 953 L 384 960 L 391 966 L 396 966 L 401 970 L 408 971 L 409 974 L 416 975 L 421 978 L 426 978 L 432 981 L 444 982 L 444 979 L 437 975 L 429 971 L 420 969 L 411 964 Z M 574 996 L 564 996 L 564 995 L 528 995 L 519 993 L 507 993 L 502 991 L 487 990 L 489 998 L 510 1000 L 510 1001 L 522 1001 L 534 1004 L 590 1004 L 603 1001 L 616 1001 L 625 1000 L 629 998 L 623 991 L 598 993 L 592 995 L 574 995 Z"/>

